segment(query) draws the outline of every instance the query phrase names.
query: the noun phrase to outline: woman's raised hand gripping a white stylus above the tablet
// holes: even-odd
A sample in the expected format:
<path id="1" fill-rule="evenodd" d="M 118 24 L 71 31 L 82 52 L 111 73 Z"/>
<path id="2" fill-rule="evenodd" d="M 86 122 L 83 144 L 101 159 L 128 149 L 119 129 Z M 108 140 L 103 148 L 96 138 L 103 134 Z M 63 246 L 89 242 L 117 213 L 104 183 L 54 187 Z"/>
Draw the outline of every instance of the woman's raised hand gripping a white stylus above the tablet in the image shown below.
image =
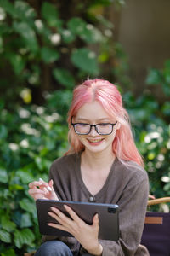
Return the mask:
<path id="1" fill-rule="evenodd" d="M 53 180 L 51 179 L 49 183 L 44 182 L 41 178 L 39 181 L 34 181 L 29 183 L 28 193 L 33 197 L 36 201 L 37 199 L 53 199 L 59 200 L 57 195 L 55 194 L 53 188 Z"/>

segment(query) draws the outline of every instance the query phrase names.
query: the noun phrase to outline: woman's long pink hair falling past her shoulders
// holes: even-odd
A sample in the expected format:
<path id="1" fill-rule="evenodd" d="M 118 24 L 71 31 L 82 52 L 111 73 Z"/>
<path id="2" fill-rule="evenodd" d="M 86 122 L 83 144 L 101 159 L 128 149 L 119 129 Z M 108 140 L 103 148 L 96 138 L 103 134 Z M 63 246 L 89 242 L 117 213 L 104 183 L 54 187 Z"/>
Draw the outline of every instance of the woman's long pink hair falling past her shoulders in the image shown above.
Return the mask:
<path id="1" fill-rule="evenodd" d="M 134 143 L 128 113 L 122 106 L 122 96 L 116 85 L 103 79 L 88 79 L 73 91 L 67 119 L 70 128 L 68 138 L 71 148 L 65 154 L 76 153 L 84 149 L 71 125 L 71 117 L 77 114 L 83 104 L 94 101 L 99 102 L 105 112 L 111 118 L 116 118 L 121 124 L 120 129 L 116 130 L 116 137 L 112 143 L 113 153 L 116 154 L 116 157 L 123 162 L 134 161 L 140 166 L 144 166 L 142 157 Z"/>

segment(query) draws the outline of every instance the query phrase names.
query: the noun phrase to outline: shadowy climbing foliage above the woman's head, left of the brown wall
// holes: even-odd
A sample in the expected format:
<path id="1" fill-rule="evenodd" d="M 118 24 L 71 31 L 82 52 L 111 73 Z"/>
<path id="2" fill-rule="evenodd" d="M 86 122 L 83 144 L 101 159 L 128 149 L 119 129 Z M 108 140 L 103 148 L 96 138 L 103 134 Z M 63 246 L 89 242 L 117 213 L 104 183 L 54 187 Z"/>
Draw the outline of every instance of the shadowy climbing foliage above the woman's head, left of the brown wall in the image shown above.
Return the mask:
<path id="1" fill-rule="evenodd" d="M 34 88 L 40 94 L 44 88 L 71 89 L 89 76 L 102 76 L 101 65 L 108 59 L 99 65 L 94 49 L 101 52 L 110 37 L 105 30 L 111 30 L 111 24 L 103 17 L 102 9 L 112 2 L 122 5 L 121 0 L 102 0 L 72 8 L 74 2 L 70 1 L 71 8 L 65 9 L 66 1 L 42 1 L 37 5 L 0 0 L 0 91 L 10 105 L 25 89 L 30 89 L 30 100 L 21 98 L 28 104 Z M 101 15 L 95 15 L 96 8 L 101 9 Z"/>

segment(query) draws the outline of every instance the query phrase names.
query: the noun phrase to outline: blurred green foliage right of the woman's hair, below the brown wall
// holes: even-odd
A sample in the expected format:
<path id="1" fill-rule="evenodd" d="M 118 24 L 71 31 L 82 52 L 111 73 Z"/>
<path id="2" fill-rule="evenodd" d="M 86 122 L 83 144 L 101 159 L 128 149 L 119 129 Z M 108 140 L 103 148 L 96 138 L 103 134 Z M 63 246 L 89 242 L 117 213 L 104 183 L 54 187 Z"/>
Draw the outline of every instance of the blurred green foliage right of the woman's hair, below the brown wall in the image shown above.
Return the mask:
<path id="1" fill-rule="evenodd" d="M 156 198 L 170 195 L 170 93 L 169 61 L 162 70 L 150 69 L 146 82 L 162 88 L 164 102 L 158 102 L 150 87 L 135 99 L 131 93 L 124 96 L 134 126 L 139 151 L 144 156 L 145 169 L 150 178 L 150 194 Z"/>

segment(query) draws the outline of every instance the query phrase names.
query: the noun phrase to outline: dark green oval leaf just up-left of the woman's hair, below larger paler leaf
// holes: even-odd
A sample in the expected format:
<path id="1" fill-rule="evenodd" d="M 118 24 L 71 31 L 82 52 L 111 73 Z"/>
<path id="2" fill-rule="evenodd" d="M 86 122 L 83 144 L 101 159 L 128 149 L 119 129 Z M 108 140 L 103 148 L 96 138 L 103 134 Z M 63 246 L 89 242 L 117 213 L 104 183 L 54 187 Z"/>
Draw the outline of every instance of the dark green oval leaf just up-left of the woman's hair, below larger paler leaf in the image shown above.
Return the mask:
<path id="1" fill-rule="evenodd" d="M 75 86 L 76 82 L 71 73 L 64 68 L 55 68 L 54 78 L 60 83 L 65 85 L 68 88 L 72 88 Z"/>

